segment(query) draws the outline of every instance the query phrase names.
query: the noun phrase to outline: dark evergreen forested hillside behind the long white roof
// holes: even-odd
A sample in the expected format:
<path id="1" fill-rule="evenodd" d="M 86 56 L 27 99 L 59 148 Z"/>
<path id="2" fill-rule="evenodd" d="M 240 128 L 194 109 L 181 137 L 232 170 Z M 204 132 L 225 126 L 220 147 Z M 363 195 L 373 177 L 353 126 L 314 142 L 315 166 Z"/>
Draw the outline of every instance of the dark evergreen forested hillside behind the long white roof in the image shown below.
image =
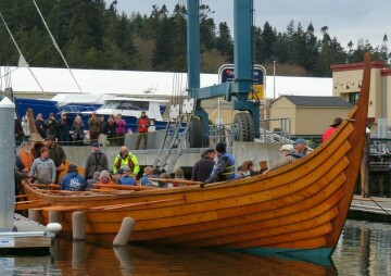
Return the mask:
<path id="1" fill-rule="evenodd" d="M 203 1 L 205 2 L 205 1 Z M 150 14 L 121 14 L 116 1 L 36 0 L 59 48 L 71 67 L 186 72 L 186 8 L 151 7 Z M 0 0 L 0 12 L 30 66 L 64 67 L 49 33 L 30 0 Z M 201 7 L 201 70 L 217 73 L 232 62 L 234 42 L 227 23 L 216 24 L 213 11 Z M 350 42 L 344 49 L 327 26 L 320 38 L 310 24 L 288 22 L 277 30 L 267 22 L 254 27 L 254 63 L 277 75 L 330 76 L 330 64 L 362 62 L 366 51 L 374 60 L 389 61 L 384 35 L 381 46 Z M 0 65 L 16 65 L 18 51 L 3 22 L 0 24 Z"/>

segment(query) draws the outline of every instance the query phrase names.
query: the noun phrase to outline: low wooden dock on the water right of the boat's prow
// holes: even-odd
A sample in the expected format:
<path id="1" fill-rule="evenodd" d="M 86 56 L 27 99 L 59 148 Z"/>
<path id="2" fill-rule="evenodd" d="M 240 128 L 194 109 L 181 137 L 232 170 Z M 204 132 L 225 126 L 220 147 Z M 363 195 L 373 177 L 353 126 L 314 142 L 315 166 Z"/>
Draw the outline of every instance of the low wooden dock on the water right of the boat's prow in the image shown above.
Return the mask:
<path id="1" fill-rule="evenodd" d="M 391 223 L 391 199 L 354 196 L 349 218 Z"/>

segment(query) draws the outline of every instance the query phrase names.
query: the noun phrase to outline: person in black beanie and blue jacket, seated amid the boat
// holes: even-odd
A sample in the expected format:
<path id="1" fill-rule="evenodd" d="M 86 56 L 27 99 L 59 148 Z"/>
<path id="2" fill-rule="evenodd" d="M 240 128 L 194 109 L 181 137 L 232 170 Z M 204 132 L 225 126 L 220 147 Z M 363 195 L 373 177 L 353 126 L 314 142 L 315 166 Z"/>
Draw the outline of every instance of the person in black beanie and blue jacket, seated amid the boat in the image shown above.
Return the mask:
<path id="1" fill-rule="evenodd" d="M 204 187 L 204 184 L 215 183 L 215 181 L 225 181 L 235 179 L 235 159 L 232 154 L 227 153 L 226 145 L 224 142 L 218 142 L 216 145 L 217 152 L 217 162 L 213 167 L 211 176 L 202 183 L 201 188 Z"/>

